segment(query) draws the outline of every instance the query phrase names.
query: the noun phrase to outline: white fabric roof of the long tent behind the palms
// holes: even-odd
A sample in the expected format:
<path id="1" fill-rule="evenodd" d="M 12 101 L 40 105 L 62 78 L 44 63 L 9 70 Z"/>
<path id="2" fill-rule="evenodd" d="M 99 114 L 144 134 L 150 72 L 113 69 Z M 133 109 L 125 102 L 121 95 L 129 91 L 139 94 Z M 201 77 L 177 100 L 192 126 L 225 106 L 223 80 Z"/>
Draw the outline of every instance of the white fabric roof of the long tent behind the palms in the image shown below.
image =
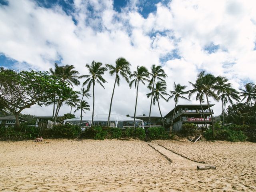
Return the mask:
<path id="1" fill-rule="evenodd" d="M 80 117 L 77 118 L 73 118 L 73 119 L 66 119 L 64 120 L 65 122 L 70 122 L 70 121 L 80 121 Z M 83 116 L 82 117 L 82 121 L 88 121 L 91 122 L 92 121 L 92 116 Z M 94 115 L 93 121 L 108 121 L 108 115 L 106 114 L 96 114 Z M 133 121 L 133 118 L 131 117 L 126 117 L 124 115 L 120 115 L 120 114 L 111 114 L 110 115 L 110 121 Z M 135 119 L 136 122 L 142 122 L 141 119 Z"/>

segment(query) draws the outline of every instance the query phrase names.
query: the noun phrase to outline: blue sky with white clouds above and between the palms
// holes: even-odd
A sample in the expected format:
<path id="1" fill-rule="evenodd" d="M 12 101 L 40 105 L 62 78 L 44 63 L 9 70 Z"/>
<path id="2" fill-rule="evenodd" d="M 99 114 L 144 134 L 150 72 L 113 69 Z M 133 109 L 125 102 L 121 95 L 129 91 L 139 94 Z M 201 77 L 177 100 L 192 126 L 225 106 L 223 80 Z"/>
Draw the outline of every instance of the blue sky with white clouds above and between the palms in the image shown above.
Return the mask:
<path id="1" fill-rule="evenodd" d="M 255 0 L 0 0 L 0 66 L 45 71 L 69 64 L 85 75 L 93 60 L 114 65 L 124 57 L 132 71 L 161 65 L 168 92 L 174 82 L 189 90 L 200 70 L 226 76 L 238 89 L 256 82 L 255 10 Z M 95 114 L 108 114 L 114 77 L 106 72 L 104 78 L 105 89 L 95 88 Z M 140 85 L 137 115 L 149 114 L 149 92 Z M 132 116 L 135 99 L 135 88 L 121 79 L 112 114 Z M 92 106 L 92 98 L 87 101 Z M 219 115 L 221 102 L 210 101 Z M 192 97 L 179 104 L 199 102 Z M 166 115 L 174 101 L 160 100 L 160 107 Z M 60 109 L 60 115 L 68 112 L 68 106 Z M 22 113 L 51 115 L 52 106 Z M 160 115 L 158 106 L 152 115 Z"/>

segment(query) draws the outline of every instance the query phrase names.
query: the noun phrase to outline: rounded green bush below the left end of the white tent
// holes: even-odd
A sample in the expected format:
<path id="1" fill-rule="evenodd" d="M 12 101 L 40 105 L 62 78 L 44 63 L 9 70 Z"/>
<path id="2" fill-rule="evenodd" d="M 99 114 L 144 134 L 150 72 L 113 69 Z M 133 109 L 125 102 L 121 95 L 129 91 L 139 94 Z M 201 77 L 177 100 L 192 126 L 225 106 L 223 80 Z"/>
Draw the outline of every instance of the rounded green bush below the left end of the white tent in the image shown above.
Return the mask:
<path id="1" fill-rule="evenodd" d="M 73 139 L 80 133 L 81 128 L 76 125 L 58 124 L 52 128 L 52 134 L 56 138 Z"/>

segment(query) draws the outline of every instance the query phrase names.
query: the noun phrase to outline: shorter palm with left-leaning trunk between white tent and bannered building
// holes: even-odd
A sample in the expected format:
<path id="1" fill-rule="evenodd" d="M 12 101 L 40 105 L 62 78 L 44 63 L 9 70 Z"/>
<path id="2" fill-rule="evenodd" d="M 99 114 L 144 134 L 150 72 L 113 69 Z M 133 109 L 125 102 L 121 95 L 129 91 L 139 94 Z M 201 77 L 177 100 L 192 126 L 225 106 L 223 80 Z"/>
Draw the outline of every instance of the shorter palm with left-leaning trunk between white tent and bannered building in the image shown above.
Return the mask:
<path id="1" fill-rule="evenodd" d="M 150 93 L 147 94 L 147 98 L 152 96 L 152 93 L 154 94 L 152 102 L 153 102 L 153 105 L 155 105 L 156 102 L 158 104 L 158 109 L 159 109 L 159 112 L 160 112 L 160 116 L 161 116 L 162 124 L 163 124 L 163 128 L 164 128 L 164 119 L 163 119 L 163 116 L 162 116 L 162 113 L 161 113 L 161 110 L 160 110 L 159 99 L 163 98 L 165 101 L 167 101 L 167 99 L 164 98 L 164 96 L 170 96 L 168 93 L 166 93 L 166 82 L 158 81 L 158 82 L 156 82 L 155 87 L 149 85 L 148 88 L 150 90 L 154 89 L 154 92 L 150 92 Z"/>

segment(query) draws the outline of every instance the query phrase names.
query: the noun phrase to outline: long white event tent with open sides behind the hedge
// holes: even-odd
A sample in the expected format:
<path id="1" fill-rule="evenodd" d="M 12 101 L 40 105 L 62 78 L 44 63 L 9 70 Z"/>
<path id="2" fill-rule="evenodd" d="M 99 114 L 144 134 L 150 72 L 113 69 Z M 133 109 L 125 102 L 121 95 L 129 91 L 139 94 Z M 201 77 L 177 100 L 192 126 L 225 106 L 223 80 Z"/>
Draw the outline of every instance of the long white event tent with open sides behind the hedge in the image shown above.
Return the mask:
<path id="1" fill-rule="evenodd" d="M 72 124 L 72 125 L 80 125 L 81 118 L 73 118 L 64 120 L 64 124 Z M 107 126 L 108 115 L 97 114 L 94 115 L 93 125 Z M 81 126 L 90 126 L 92 124 L 92 116 L 84 116 L 82 117 Z M 110 115 L 110 126 L 118 127 L 118 128 L 126 128 L 133 126 L 133 118 L 119 115 L 119 114 L 111 114 Z M 144 128 L 143 120 L 135 119 L 135 126 Z"/>

